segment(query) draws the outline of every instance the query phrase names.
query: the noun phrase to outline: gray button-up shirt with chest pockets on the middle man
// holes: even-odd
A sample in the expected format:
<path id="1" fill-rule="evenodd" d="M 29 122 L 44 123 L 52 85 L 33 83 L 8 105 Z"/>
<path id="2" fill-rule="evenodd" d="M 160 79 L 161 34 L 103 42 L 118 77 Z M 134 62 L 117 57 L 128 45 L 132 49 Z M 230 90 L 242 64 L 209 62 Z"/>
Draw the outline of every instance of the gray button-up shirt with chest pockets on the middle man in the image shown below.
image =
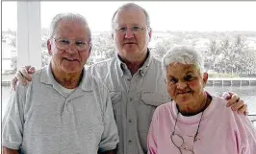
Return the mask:
<path id="1" fill-rule="evenodd" d="M 111 93 L 119 139 L 118 154 L 145 154 L 146 138 L 156 107 L 169 101 L 161 62 L 150 53 L 132 76 L 118 56 L 88 68 Z"/>

